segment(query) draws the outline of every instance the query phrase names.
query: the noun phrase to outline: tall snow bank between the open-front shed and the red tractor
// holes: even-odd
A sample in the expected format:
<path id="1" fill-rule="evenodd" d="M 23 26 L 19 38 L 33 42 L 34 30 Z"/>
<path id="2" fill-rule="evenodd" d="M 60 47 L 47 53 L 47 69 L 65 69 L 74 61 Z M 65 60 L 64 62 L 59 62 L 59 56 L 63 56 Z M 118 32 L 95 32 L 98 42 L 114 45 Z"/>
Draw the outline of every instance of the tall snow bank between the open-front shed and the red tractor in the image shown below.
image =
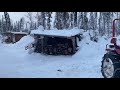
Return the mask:
<path id="1" fill-rule="evenodd" d="M 110 40 L 105 39 L 105 37 L 99 38 L 96 43 L 90 40 L 89 32 L 84 32 L 82 41 L 78 43 L 79 51 L 75 56 L 94 57 L 95 55 L 104 54 L 106 44 L 108 44 Z"/>

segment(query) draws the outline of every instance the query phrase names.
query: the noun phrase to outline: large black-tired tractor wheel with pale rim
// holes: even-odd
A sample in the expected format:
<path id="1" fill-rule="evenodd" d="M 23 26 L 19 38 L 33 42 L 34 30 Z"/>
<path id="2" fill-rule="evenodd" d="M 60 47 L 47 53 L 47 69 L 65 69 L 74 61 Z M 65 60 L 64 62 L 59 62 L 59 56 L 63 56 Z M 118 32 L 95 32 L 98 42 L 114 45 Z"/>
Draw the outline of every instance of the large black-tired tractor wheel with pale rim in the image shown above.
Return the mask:
<path id="1" fill-rule="evenodd" d="M 101 73 L 104 78 L 120 78 L 119 58 L 120 56 L 118 56 L 116 53 L 113 52 L 104 55 L 101 65 Z"/>

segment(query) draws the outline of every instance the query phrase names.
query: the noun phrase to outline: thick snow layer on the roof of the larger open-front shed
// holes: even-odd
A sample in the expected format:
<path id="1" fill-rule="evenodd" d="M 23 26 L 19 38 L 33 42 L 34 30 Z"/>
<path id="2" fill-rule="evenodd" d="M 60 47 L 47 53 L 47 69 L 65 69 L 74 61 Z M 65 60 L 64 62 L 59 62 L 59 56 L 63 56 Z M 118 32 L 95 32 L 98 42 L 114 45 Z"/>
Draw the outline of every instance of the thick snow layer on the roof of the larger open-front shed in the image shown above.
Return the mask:
<path id="1" fill-rule="evenodd" d="M 50 36 L 62 36 L 62 37 L 71 37 L 77 34 L 80 34 L 80 29 L 71 29 L 71 30 L 32 30 L 31 34 L 39 35 L 50 35 Z"/>

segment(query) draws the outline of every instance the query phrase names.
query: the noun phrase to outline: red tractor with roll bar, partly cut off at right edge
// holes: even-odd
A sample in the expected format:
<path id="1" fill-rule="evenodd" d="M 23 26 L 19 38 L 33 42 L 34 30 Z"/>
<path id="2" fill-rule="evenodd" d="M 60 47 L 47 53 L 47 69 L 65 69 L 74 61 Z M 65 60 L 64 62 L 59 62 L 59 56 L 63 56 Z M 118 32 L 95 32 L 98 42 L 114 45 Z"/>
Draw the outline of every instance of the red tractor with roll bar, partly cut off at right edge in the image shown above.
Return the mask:
<path id="1" fill-rule="evenodd" d="M 112 39 L 110 44 L 106 45 L 106 54 L 104 54 L 101 65 L 101 73 L 104 78 L 120 78 L 120 46 L 115 37 L 115 21 L 113 20 Z"/>

